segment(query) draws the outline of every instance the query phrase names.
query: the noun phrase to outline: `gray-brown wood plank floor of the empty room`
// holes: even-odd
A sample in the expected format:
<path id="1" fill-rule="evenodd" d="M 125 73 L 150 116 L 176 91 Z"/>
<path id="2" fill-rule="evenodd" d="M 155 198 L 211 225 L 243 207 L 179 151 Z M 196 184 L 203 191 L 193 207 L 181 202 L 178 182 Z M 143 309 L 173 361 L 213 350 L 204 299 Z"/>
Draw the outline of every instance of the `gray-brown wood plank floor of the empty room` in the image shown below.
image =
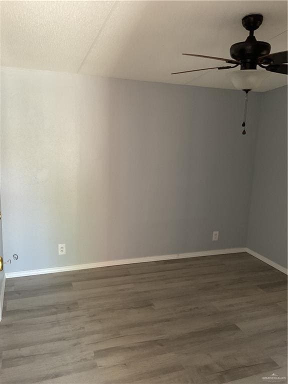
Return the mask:
<path id="1" fill-rule="evenodd" d="M 247 253 L 7 279 L 0 382 L 263 383 L 286 375 L 286 286 Z"/>

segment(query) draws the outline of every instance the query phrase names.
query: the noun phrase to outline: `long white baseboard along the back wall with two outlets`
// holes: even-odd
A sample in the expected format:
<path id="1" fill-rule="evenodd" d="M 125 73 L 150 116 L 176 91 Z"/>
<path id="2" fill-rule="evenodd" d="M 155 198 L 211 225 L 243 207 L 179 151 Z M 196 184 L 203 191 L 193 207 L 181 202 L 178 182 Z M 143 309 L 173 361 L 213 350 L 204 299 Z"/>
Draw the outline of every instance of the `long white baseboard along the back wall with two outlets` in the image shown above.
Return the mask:
<path id="1" fill-rule="evenodd" d="M 46 273 L 66 272 L 66 271 L 79 270 L 79 269 L 99 268 L 102 266 L 134 264 L 138 262 L 170 260 L 170 259 L 186 258 L 186 257 L 201 257 L 201 256 L 238 253 L 238 252 L 245 252 L 245 248 L 213 249 L 213 250 L 203 250 L 203 251 L 191 252 L 191 253 L 175 253 L 175 254 L 165 254 L 165 255 L 159 255 L 159 256 L 125 258 L 121 260 L 98 261 L 98 262 L 92 262 L 89 264 L 65 265 L 65 266 L 59 266 L 55 268 L 21 270 L 18 272 L 6 272 L 5 275 L 6 275 L 6 278 L 23 277 L 23 276 L 32 276 L 35 274 L 46 274 Z"/>

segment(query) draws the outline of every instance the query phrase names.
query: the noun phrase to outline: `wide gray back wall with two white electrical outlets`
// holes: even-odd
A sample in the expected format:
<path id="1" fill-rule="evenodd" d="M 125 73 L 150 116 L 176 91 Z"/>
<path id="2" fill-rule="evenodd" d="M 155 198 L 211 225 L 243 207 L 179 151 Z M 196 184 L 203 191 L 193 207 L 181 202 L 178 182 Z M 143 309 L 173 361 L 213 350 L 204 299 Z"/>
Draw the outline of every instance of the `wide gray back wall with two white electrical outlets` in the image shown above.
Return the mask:
<path id="1" fill-rule="evenodd" d="M 236 90 L 4 68 L 1 97 L 6 271 L 245 246 L 260 94 L 246 136 Z"/>

